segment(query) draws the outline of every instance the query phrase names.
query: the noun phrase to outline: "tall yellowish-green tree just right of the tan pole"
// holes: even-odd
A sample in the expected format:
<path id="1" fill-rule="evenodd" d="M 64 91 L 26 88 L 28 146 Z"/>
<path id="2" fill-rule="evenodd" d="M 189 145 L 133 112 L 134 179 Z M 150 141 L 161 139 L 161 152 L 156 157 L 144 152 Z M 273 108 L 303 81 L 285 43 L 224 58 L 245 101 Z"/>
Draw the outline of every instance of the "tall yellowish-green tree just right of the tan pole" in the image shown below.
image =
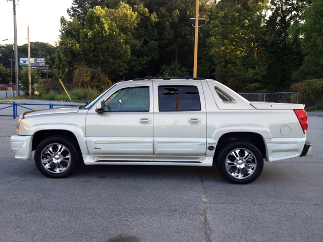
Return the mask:
<path id="1" fill-rule="evenodd" d="M 235 89 L 258 82 L 266 74 L 262 53 L 266 0 L 222 0 L 207 26 L 207 46 L 216 79 Z"/>

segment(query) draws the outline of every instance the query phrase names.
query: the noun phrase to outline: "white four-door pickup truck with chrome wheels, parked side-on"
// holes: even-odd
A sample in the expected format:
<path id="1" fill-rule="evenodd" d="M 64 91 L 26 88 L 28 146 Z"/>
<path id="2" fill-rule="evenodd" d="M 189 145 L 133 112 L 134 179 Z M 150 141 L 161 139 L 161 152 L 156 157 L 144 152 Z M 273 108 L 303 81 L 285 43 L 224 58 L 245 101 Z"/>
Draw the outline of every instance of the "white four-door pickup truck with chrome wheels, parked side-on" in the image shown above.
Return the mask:
<path id="1" fill-rule="evenodd" d="M 11 137 L 15 158 L 34 160 L 51 178 L 86 165 L 217 165 L 248 184 L 263 161 L 305 156 L 302 104 L 249 102 L 203 78 L 137 78 L 113 85 L 84 106 L 27 111 Z"/>

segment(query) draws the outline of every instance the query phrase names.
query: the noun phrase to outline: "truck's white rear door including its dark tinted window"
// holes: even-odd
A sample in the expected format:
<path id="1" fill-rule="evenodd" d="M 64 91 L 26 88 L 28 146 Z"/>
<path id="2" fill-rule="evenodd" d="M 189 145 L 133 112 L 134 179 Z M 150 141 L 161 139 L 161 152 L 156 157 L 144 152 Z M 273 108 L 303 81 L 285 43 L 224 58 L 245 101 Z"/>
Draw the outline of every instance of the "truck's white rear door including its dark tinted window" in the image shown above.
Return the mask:
<path id="1" fill-rule="evenodd" d="M 154 155 L 204 156 L 206 110 L 200 81 L 153 81 Z"/>

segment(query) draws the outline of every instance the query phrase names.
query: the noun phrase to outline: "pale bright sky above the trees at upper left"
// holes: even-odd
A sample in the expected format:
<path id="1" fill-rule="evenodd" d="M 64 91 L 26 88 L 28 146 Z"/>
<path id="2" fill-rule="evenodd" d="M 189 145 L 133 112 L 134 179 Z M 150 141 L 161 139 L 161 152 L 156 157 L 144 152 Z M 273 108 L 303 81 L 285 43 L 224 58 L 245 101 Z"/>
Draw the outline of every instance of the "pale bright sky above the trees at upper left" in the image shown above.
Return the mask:
<path id="1" fill-rule="evenodd" d="M 66 12 L 72 0 L 16 0 L 18 45 L 27 43 L 29 25 L 30 42 L 55 45 L 60 35 L 60 18 L 69 19 Z M 28 17 L 30 16 L 30 17 Z M 7 41 L 2 41 L 8 39 Z M 0 0 L 0 44 L 14 43 L 13 2 Z"/>

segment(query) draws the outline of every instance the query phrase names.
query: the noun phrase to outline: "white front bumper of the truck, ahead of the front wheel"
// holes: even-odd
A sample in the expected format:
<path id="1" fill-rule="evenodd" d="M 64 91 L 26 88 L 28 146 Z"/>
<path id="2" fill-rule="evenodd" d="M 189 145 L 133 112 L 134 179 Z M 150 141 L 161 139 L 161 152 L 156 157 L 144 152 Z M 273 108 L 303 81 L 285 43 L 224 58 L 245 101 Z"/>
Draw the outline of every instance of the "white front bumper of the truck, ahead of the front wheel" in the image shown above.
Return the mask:
<path id="1" fill-rule="evenodd" d="M 10 143 L 12 150 L 16 154 L 16 159 L 31 159 L 32 136 L 14 135 L 11 137 Z"/>

